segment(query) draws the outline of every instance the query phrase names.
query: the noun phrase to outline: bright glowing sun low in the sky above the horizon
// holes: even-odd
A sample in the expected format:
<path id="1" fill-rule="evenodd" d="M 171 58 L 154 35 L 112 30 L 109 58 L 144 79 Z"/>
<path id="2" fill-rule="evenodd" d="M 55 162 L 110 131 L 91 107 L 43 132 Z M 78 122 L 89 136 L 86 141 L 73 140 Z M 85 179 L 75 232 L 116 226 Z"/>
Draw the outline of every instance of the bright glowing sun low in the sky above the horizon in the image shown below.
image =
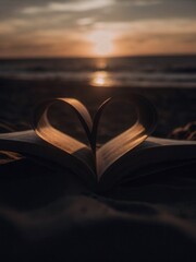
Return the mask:
<path id="1" fill-rule="evenodd" d="M 113 51 L 113 36 L 107 31 L 95 31 L 88 35 L 96 56 L 109 56 Z"/>

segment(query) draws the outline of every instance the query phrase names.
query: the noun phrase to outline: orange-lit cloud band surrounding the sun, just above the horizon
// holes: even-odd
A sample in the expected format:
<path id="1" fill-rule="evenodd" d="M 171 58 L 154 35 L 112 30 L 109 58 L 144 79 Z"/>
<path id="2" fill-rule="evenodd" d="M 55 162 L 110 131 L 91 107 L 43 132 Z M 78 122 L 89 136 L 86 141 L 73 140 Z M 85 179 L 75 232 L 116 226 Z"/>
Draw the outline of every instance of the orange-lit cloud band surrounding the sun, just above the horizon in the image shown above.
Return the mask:
<path id="1" fill-rule="evenodd" d="M 14 26 L 13 21 L 13 26 Z M 85 21 L 84 21 L 85 22 Z M 86 21 L 85 23 L 88 23 Z M 29 23 L 30 26 L 32 23 Z M 83 24 L 83 23 L 82 23 Z M 17 26 L 23 27 L 17 21 Z M 4 28 L 4 27 L 3 27 Z M 93 43 L 90 35 L 96 32 L 111 34 L 114 45 L 113 55 L 142 55 L 167 52 L 194 52 L 196 50 L 196 20 L 151 20 L 121 23 L 95 23 L 84 32 L 79 26 L 11 32 L 0 35 L 0 56 L 90 56 Z M 95 38 L 95 37 L 94 37 Z"/>

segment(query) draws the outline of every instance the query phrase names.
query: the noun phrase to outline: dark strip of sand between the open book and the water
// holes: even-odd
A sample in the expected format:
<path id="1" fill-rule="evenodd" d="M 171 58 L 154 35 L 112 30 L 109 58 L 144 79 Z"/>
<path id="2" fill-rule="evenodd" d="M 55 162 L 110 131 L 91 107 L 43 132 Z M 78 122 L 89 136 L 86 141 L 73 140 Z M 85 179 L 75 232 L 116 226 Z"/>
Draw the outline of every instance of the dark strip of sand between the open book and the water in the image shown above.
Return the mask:
<path id="1" fill-rule="evenodd" d="M 3 131 L 4 124 L 5 128 L 14 130 L 29 128 L 35 105 L 46 98 L 75 97 L 93 111 L 105 98 L 119 95 L 128 97 L 132 93 L 142 94 L 155 105 L 158 124 L 154 135 L 166 138 L 175 128 L 196 120 L 194 88 L 96 87 L 84 82 L 56 79 L 35 81 L 0 79 L 1 130 Z"/>

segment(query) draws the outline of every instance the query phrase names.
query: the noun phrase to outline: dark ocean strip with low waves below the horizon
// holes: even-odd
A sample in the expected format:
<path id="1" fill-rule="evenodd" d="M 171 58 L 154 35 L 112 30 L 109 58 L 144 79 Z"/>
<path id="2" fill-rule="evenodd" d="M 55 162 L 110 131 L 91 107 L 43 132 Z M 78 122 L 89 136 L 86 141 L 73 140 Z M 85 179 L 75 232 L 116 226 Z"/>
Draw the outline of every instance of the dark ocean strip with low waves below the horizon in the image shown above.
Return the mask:
<path id="1" fill-rule="evenodd" d="M 63 80 L 94 86 L 196 88 L 196 55 L 1 59 L 0 78 Z"/>

